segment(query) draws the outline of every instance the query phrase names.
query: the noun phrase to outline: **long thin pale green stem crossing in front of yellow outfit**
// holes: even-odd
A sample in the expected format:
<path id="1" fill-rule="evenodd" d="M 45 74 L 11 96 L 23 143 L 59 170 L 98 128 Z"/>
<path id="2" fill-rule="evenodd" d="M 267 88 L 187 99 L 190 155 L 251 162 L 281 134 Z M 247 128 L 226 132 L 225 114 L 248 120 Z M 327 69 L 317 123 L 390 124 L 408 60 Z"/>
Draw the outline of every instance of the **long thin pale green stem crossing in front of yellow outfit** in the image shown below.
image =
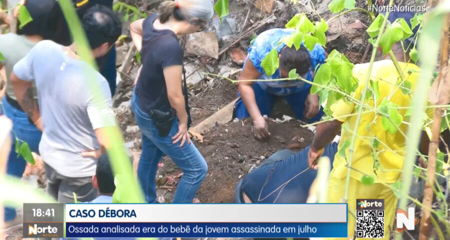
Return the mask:
<path id="1" fill-rule="evenodd" d="M 389 6 L 392 5 L 393 0 L 389 0 Z M 365 10 L 365 9 L 364 9 Z M 384 31 L 384 27 L 386 26 L 387 23 L 387 17 L 389 16 L 389 12 L 386 12 L 386 16 L 383 19 L 383 22 L 381 23 L 381 26 L 379 28 L 379 32 L 383 32 Z M 365 99 L 365 94 L 367 93 L 367 88 L 368 88 L 368 83 L 370 81 L 370 75 L 372 72 L 372 67 L 373 67 L 373 61 L 375 60 L 375 55 L 376 55 L 376 50 L 378 48 L 378 44 L 379 41 L 381 39 L 381 34 L 379 34 L 376 37 L 376 41 L 373 44 L 373 49 L 372 49 L 372 55 L 370 56 L 370 63 L 369 63 L 369 68 L 367 70 L 367 76 L 365 79 L 365 85 L 364 88 L 362 89 L 362 93 L 361 96 L 359 98 L 359 105 L 362 106 L 364 104 L 364 99 Z M 358 114 L 356 115 L 356 121 L 355 121 L 355 125 L 353 128 L 353 132 L 357 132 L 358 127 L 359 127 L 359 123 L 361 122 L 361 117 L 362 117 L 362 107 L 358 108 Z M 350 146 L 348 147 L 348 170 L 347 170 L 347 175 L 346 175 L 346 179 L 345 179 L 345 193 L 344 193 L 344 199 L 342 200 L 342 202 L 347 202 L 348 200 L 348 185 L 350 184 L 350 173 L 351 173 L 351 162 L 353 160 L 353 151 L 354 151 L 354 143 L 356 141 L 356 134 L 352 134 L 351 135 L 351 139 L 350 139 Z"/>

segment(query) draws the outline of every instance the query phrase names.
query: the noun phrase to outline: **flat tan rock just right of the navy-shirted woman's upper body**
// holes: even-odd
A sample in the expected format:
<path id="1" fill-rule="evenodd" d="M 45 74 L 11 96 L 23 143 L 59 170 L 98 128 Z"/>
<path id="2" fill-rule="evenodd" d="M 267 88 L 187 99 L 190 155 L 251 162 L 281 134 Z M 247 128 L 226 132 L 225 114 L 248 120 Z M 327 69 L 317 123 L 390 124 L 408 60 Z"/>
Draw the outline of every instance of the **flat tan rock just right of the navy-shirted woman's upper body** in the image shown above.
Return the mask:
<path id="1" fill-rule="evenodd" d="M 218 58 L 218 42 L 214 32 L 200 31 L 187 35 L 186 55 Z"/>

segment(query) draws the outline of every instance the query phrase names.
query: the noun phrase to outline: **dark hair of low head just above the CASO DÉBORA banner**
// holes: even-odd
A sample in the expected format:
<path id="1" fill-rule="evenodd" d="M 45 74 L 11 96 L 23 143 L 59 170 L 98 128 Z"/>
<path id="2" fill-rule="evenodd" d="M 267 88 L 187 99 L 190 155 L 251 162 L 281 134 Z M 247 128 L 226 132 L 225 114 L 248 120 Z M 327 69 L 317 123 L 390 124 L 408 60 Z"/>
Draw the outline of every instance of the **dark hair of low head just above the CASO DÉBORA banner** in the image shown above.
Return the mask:
<path id="1" fill-rule="evenodd" d="M 95 176 L 98 183 L 98 191 L 100 193 L 113 193 L 115 190 L 114 174 L 112 174 L 109 157 L 106 153 L 98 157 Z"/>

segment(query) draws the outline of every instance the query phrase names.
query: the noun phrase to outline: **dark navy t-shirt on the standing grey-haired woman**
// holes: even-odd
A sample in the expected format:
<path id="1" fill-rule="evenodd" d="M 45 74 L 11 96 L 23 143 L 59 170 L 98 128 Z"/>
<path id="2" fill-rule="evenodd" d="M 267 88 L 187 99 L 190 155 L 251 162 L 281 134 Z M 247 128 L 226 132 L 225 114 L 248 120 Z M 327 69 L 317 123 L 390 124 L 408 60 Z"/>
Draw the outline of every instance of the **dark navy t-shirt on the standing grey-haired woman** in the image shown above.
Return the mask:
<path id="1" fill-rule="evenodd" d="M 142 49 L 140 50 L 142 70 L 135 89 L 139 107 L 147 114 L 150 114 L 150 109 L 161 111 L 170 109 L 162 69 L 173 65 L 183 65 L 183 49 L 175 33 L 168 29 L 158 30 L 153 27 L 157 16 L 152 14 L 142 23 Z"/>

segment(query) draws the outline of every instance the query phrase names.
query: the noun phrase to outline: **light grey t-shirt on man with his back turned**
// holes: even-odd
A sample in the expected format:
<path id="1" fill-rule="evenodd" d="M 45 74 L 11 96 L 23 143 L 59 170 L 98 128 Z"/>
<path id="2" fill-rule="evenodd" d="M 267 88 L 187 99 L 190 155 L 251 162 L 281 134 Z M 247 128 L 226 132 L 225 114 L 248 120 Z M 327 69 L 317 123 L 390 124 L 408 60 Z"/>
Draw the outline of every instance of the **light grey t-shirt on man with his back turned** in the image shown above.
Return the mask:
<path id="1" fill-rule="evenodd" d="M 36 83 L 43 161 L 64 176 L 92 176 L 96 159 L 83 157 L 81 152 L 98 149 L 94 129 L 115 125 L 111 93 L 100 73 L 69 57 L 62 47 L 50 40 L 40 41 L 13 71 L 21 80 Z M 101 105 L 106 107 L 94 102 L 88 84 L 92 77 L 100 85 Z"/>

